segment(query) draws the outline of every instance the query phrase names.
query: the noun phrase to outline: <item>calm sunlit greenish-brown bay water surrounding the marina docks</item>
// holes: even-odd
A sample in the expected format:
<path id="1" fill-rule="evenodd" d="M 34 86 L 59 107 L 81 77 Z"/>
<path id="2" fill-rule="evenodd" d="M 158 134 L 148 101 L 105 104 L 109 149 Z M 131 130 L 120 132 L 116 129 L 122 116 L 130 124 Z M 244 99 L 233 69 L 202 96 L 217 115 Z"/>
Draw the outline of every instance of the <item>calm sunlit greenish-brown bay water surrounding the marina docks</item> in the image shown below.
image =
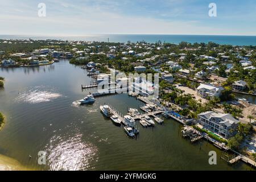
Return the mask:
<path id="1" fill-rule="evenodd" d="M 82 92 L 90 78 L 80 67 L 60 63 L 35 68 L 0 68 L 6 78 L 0 90 L 0 110 L 7 123 L 0 131 L 0 154 L 30 169 L 47 170 L 250 170 L 243 163 L 229 166 L 221 151 L 207 142 L 191 144 L 180 134 L 181 125 L 166 119 L 154 129 L 140 128 L 137 139 L 126 137 L 100 113 L 109 103 L 122 114 L 143 103 L 127 94 L 98 97 L 79 106 L 92 90 Z M 217 165 L 208 163 L 217 151 Z M 38 164 L 38 152 L 47 152 L 47 164 Z M 32 158 L 28 159 L 28 155 Z"/>

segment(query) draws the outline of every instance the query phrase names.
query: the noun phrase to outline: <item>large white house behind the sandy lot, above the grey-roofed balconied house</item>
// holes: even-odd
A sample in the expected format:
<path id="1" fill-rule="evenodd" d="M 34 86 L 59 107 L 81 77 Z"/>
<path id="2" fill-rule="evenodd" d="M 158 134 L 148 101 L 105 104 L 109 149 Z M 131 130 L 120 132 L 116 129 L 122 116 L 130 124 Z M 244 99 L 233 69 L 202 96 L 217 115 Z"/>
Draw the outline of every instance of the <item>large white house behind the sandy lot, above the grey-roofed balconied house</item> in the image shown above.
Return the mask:
<path id="1" fill-rule="evenodd" d="M 200 84 L 200 86 L 196 89 L 197 94 L 199 94 L 201 97 L 220 97 L 221 92 L 224 90 L 222 86 L 213 86 L 210 84 Z"/>

